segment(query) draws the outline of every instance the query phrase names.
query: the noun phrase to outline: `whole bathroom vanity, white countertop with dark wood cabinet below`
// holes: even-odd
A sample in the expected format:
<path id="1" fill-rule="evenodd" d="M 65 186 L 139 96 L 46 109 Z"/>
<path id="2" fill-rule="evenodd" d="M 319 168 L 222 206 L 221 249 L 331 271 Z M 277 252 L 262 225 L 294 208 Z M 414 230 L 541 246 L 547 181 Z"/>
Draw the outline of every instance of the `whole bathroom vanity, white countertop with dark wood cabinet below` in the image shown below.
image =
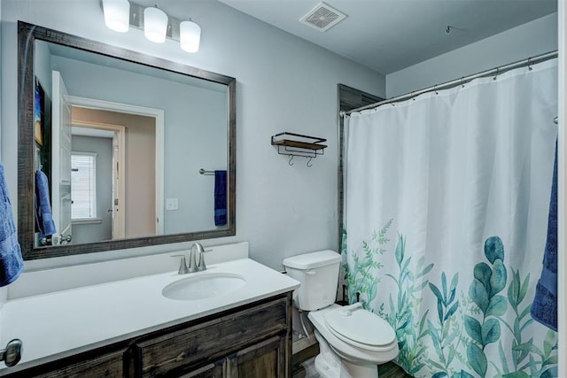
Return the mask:
<path id="1" fill-rule="evenodd" d="M 2 321 L 14 327 L 3 327 L 2 339 L 21 339 L 23 357 L 0 376 L 291 376 L 291 292 L 299 282 L 249 258 L 193 277 L 212 274 L 238 274 L 245 285 L 176 300 L 162 290 L 192 274 L 168 272 L 9 301 Z"/>

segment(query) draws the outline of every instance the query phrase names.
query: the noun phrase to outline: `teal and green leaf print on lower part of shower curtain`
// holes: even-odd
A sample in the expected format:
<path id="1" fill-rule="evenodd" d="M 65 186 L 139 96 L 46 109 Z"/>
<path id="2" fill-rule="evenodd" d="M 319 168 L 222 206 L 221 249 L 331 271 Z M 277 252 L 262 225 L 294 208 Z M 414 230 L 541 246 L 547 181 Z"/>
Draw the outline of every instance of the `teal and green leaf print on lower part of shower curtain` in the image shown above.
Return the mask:
<path id="1" fill-rule="evenodd" d="M 533 328 L 542 328 L 529 317 L 530 305 L 526 305 L 524 310 L 518 313 L 518 305 L 524 300 L 530 284 L 529 274 L 520 284 L 519 271 L 514 271 L 512 268 L 513 274 L 507 282 L 507 268 L 503 263 L 504 246 L 498 236 L 486 239 L 484 253 L 490 265 L 482 261 L 474 266 L 469 297 L 458 299 L 459 273 L 455 273 L 448 283 L 447 274 L 442 272 L 439 287 L 425 279 L 424 276 L 431 271 L 433 264 L 424 266 L 422 257 L 417 262 L 415 270 L 411 270 L 411 257 L 406 255 L 403 235 L 399 235 L 398 243 L 392 253 L 399 274 L 397 276 L 386 274 L 396 284 L 396 299 L 394 300 L 390 293 L 388 303 L 377 304 L 377 314 L 388 320 L 396 332 L 400 346 L 398 364 L 408 374 L 433 378 L 556 377 L 555 332 L 548 330 L 540 346 L 534 342 L 533 336 L 522 342 L 523 334 L 533 334 L 530 332 L 531 325 Z M 368 256 L 372 258 L 373 255 Z M 383 267 L 388 268 L 388 266 Z M 345 268 L 346 275 L 360 277 L 359 281 L 349 281 L 349 284 L 354 283 L 361 287 L 361 281 L 370 279 L 369 274 L 357 274 L 347 263 Z M 507 286 L 508 297 L 503 297 L 499 293 Z M 420 294 L 425 287 L 428 287 L 436 297 L 436 303 L 424 308 Z M 376 292 L 372 291 L 370 295 L 372 294 Z M 369 296 L 361 298 L 368 300 L 367 303 L 376 299 Z M 349 299 L 353 303 L 356 297 Z M 465 308 L 462 311 L 464 321 L 459 319 L 460 308 Z M 375 308 L 369 310 L 374 311 Z M 421 317 L 420 311 L 423 312 Z M 513 325 L 510 325 L 503 316 L 507 312 L 514 313 Z M 514 336 L 509 351 L 504 350 L 501 341 L 502 327 L 508 329 Z M 490 360 L 495 354 L 486 351 L 489 344 L 496 342 L 499 342 L 497 352 L 499 361 Z M 435 358 L 431 358 L 432 351 L 436 354 Z M 511 364 L 507 356 L 511 357 Z M 496 374 L 486 374 L 489 361 Z M 427 372 L 424 373 L 424 370 Z"/>

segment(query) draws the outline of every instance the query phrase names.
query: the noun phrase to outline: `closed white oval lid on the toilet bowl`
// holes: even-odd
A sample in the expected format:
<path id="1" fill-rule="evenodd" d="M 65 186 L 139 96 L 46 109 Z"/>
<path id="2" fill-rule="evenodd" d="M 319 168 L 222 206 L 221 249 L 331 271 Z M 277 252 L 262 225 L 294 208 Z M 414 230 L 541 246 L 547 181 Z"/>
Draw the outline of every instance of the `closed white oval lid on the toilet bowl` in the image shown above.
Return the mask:
<path id="1" fill-rule="evenodd" d="M 392 326 L 377 314 L 363 309 L 338 308 L 327 313 L 325 321 L 333 335 L 362 349 L 382 351 L 395 344 Z"/>

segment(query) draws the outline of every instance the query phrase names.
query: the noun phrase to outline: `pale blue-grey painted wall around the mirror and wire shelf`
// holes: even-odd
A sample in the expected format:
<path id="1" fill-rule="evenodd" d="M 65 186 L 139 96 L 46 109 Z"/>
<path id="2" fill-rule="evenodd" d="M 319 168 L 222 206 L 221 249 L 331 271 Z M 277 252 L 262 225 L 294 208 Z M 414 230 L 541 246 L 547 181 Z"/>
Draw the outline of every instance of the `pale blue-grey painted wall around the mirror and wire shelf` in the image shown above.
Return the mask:
<path id="1" fill-rule="evenodd" d="M 20 19 L 236 77 L 237 236 L 205 244 L 249 241 L 251 257 L 276 268 L 287 256 L 338 248 L 337 84 L 384 96 L 382 75 L 216 1 L 191 2 L 191 18 L 203 31 L 197 54 L 183 52 L 173 41 L 148 42 L 140 30 L 113 32 L 105 27 L 99 0 L 3 0 L 2 18 L 2 158 L 12 193 L 17 189 Z M 329 148 L 311 168 L 300 158 L 289 166 L 269 142 L 282 131 L 327 138 Z M 34 260 L 27 269 L 175 251 L 189 244 Z"/>

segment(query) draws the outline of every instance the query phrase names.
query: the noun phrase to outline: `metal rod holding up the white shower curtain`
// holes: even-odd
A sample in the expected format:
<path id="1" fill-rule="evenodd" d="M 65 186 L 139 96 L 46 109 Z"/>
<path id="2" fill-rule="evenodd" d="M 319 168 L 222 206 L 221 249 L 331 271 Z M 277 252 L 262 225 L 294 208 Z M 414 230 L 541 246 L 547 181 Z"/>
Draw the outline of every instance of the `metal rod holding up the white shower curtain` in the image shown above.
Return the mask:
<path id="1" fill-rule="evenodd" d="M 425 89 L 419 89 L 419 90 L 415 90 L 413 92 L 410 92 L 406 95 L 401 95 L 401 96 L 396 96 L 396 97 L 392 97 L 388 100 L 384 100 L 384 101 L 379 101 L 377 103 L 374 104 L 369 104 L 369 105 L 365 105 L 365 106 L 361 106 L 360 108 L 356 108 L 353 110 L 350 110 L 348 112 L 340 112 L 340 116 L 341 117 L 345 117 L 346 115 L 352 114 L 353 112 L 361 112 L 363 110 L 366 109 L 374 109 L 377 108 L 378 106 L 384 105 L 384 104 L 392 104 L 392 103 L 397 103 L 403 100 L 407 100 L 408 98 L 412 98 L 415 96 L 419 96 L 423 93 L 427 93 L 427 92 L 432 92 L 434 90 L 439 90 L 439 89 L 449 89 L 449 88 L 453 88 L 456 87 L 457 85 L 463 85 L 466 84 L 474 79 L 478 79 L 478 78 L 482 78 L 482 77 L 488 77 L 488 76 L 496 76 L 499 75 L 501 73 L 505 73 L 507 71 L 513 70 L 515 68 L 519 68 L 522 66 L 532 66 L 541 62 L 544 62 L 548 59 L 553 59 L 553 58 L 557 58 L 557 50 L 555 51 L 550 51 L 550 52 L 546 52 L 545 54 L 541 54 L 532 58 L 527 58 L 524 60 L 520 60 L 517 61 L 515 63 L 510 63 L 509 65 L 506 66 L 500 66 L 500 67 L 496 67 L 487 71 L 483 71 L 481 73 L 474 73 L 471 74 L 469 76 L 463 76 L 461 79 L 455 79 L 453 81 L 447 81 L 441 84 L 437 84 L 434 85 L 432 87 L 428 87 Z"/>

